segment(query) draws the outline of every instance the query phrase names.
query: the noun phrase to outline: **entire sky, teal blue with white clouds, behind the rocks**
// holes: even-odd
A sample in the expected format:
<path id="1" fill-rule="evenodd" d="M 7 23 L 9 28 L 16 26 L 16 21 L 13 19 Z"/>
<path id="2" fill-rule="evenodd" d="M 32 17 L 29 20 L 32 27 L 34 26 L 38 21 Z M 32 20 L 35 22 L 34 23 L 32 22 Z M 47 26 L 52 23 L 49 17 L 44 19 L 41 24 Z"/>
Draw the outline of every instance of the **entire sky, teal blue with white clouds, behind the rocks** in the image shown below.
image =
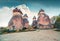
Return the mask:
<path id="1" fill-rule="evenodd" d="M 12 17 L 12 10 L 16 7 L 21 9 L 23 13 L 28 13 L 30 24 L 32 17 L 37 17 L 40 9 L 44 9 L 50 18 L 60 14 L 59 0 L 0 0 L 0 26 L 8 25 Z"/>

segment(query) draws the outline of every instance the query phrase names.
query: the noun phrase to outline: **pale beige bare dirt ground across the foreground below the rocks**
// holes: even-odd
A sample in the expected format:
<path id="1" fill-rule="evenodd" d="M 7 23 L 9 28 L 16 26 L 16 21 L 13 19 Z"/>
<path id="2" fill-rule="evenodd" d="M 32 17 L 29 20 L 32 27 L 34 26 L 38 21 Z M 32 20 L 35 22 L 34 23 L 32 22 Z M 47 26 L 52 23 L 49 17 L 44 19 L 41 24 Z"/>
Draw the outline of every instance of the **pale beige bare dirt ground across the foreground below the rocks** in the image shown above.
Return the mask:
<path id="1" fill-rule="evenodd" d="M 0 35 L 0 41 L 60 41 L 60 32 L 37 30 Z"/>

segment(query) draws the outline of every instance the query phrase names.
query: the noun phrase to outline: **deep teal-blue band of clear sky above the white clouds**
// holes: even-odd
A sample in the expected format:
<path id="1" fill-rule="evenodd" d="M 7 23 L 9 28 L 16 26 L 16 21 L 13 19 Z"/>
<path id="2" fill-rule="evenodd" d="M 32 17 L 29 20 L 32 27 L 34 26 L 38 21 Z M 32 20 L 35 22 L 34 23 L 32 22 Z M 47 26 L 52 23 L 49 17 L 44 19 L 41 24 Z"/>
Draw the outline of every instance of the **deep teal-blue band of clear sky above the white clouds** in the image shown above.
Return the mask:
<path id="1" fill-rule="evenodd" d="M 39 11 L 41 8 L 60 8 L 59 0 L 0 0 L 0 8 L 26 4 L 31 11 Z M 46 9 L 45 9 L 46 10 Z"/>

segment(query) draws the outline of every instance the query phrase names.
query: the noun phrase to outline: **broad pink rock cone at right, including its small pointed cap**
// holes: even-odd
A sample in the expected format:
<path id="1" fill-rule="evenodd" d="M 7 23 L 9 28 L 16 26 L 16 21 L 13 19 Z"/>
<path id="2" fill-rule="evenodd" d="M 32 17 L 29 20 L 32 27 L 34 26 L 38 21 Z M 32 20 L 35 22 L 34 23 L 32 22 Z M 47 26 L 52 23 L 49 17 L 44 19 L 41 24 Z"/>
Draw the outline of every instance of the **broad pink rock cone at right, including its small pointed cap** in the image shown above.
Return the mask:
<path id="1" fill-rule="evenodd" d="M 51 22 L 50 22 L 50 18 L 48 15 L 45 14 L 44 10 L 40 10 L 38 13 L 38 24 L 41 26 L 44 26 L 44 28 L 46 27 L 51 27 Z"/>

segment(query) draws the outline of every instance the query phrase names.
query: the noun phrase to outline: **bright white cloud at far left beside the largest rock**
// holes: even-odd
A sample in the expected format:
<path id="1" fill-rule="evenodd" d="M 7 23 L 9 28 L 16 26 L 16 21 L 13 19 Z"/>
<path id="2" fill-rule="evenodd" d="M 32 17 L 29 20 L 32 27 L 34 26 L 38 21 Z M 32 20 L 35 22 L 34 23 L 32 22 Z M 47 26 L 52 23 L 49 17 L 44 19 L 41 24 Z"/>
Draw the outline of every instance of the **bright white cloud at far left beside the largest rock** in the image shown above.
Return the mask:
<path id="1" fill-rule="evenodd" d="M 12 8 L 3 7 L 0 9 L 0 26 L 7 26 L 10 18 L 12 17 Z"/>

